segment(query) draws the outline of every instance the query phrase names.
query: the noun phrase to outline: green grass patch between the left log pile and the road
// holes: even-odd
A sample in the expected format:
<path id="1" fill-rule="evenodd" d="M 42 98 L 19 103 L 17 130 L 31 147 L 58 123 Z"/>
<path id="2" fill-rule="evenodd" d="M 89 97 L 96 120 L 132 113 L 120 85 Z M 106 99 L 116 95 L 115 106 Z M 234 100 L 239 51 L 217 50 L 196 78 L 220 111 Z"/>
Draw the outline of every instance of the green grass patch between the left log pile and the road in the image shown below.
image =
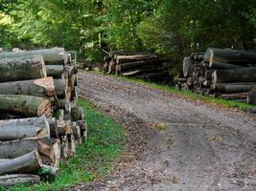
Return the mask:
<path id="1" fill-rule="evenodd" d="M 80 99 L 79 105 L 84 108 L 88 138 L 87 142 L 77 148 L 77 157 L 61 166 L 60 174 L 55 181 L 35 185 L 16 185 L 11 190 L 59 190 L 76 183 L 101 179 L 114 168 L 118 155 L 126 143 L 122 126 L 112 118 L 101 114 L 88 101 Z"/>

